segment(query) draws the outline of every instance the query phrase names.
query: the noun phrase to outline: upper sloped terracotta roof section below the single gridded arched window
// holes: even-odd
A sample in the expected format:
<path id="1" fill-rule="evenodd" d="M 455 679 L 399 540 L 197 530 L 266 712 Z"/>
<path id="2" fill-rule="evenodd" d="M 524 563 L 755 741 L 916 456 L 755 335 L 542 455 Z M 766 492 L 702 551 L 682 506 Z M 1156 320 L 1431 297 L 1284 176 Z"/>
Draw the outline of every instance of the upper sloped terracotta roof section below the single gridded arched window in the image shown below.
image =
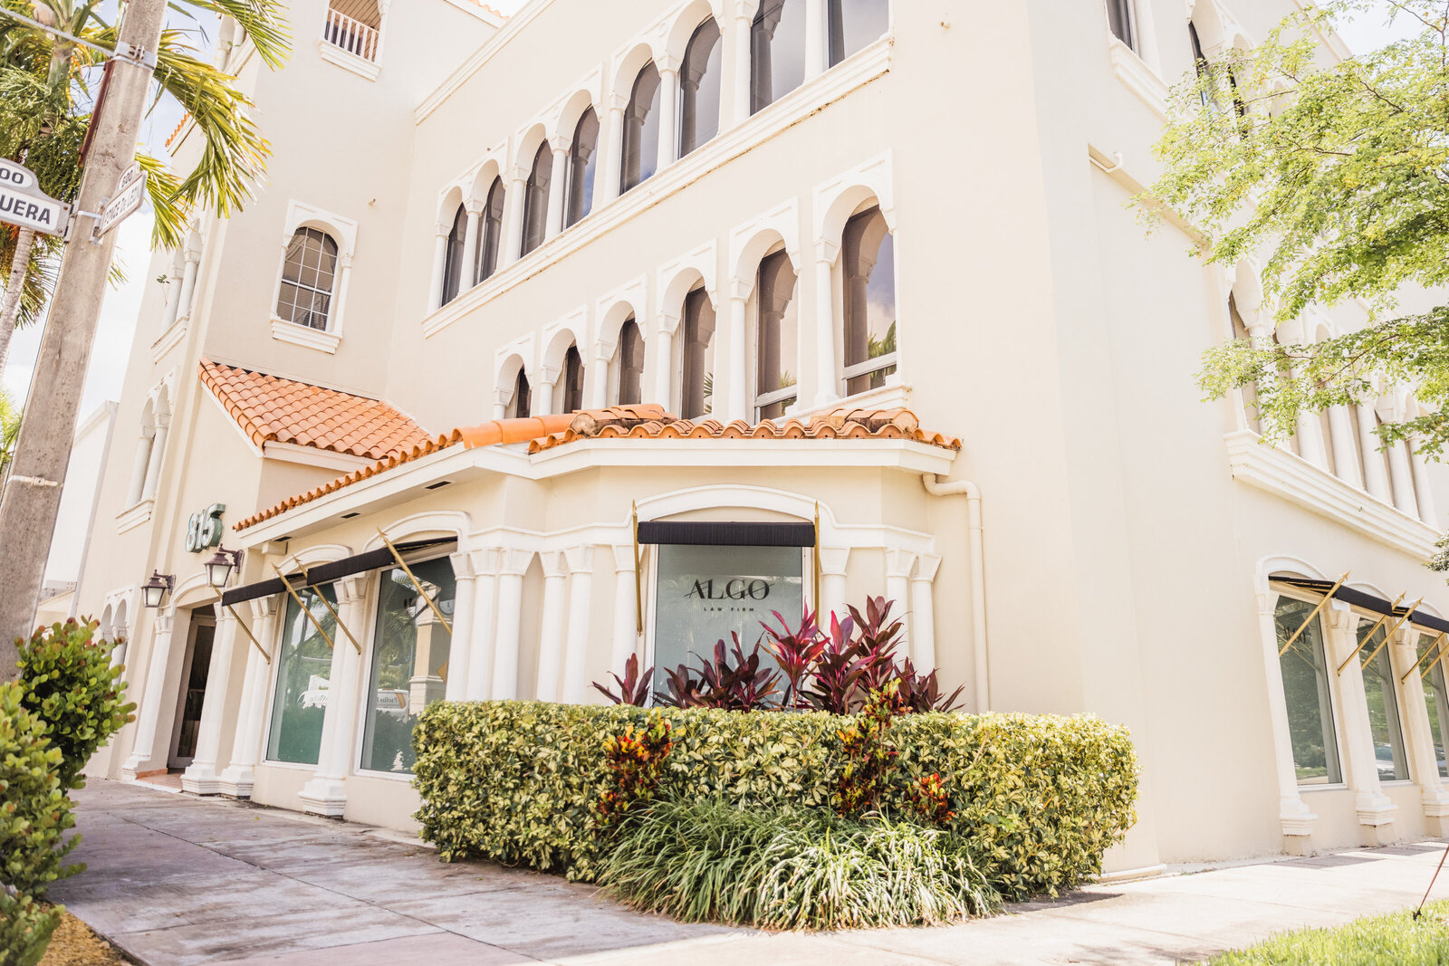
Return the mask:
<path id="1" fill-rule="evenodd" d="M 268 442 L 388 459 L 429 442 L 391 406 L 351 392 L 201 359 L 201 382 L 258 448 Z"/>

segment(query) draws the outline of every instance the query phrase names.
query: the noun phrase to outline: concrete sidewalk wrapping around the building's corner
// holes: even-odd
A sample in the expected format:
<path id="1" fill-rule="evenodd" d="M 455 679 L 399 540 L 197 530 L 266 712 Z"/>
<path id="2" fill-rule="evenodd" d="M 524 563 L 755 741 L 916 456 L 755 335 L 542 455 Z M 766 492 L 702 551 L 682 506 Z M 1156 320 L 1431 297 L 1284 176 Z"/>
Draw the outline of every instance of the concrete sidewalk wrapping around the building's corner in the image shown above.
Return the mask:
<path id="1" fill-rule="evenodd" d="M 632 912 L 556 876 L 443 865 L 394 833 L 93 781 L 90 869 L 51 891 L 149 966 L 1171 963 L 1419 902 L 1421 843 L 1093 886 L 948 928 L 764 934 Z M 1449 896 L 1449 875 L 1435 888 Z"/>

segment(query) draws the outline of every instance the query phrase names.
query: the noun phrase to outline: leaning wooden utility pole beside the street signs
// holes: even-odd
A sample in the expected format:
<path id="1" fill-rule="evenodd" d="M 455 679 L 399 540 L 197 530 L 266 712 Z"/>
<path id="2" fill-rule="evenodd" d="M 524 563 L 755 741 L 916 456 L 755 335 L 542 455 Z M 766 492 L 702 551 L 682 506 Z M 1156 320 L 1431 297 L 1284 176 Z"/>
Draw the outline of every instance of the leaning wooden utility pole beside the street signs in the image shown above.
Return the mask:
<path id="1" fill-rule="evenodd" d="M 0 681 L 16 675 L 17 637 L 29 636 L 71 458 L 85 369 L 100 320 L 116 233 L 93 242 L 106 201 L 136 158 L 141 122 L 161 45 L 167 0 L 123 4 L 104 98 L 91 116 L 90 151 L 71 238 L 61 259 L 41 355 L 0 500 Z"/>

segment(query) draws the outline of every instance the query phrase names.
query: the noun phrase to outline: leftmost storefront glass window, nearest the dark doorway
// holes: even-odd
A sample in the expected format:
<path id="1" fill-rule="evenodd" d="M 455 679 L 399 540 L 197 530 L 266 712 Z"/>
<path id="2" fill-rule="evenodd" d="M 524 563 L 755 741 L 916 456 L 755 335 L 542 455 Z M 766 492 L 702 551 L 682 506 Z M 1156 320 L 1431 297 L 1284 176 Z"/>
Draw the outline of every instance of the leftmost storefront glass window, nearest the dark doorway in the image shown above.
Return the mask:
<path id="1" fill-rule="evenodd" d="M 336 591 L 330 584 L 319 588 L 333 608 Z M 322 624 L 327 637 L 336 640 L 338 621 L 322 597 L 310 589 L 298 589 L 297 597 L 307 605 L 313 620 Z M 332 647 L 297 601 L 287 595 L 287 620 L 283 624 L 281 647 L 277 656 L 277 691 L 272 697 L 271 730 L 267 737 L 267 760 L 316 765 L 322 747 L 322 717 L 327 711 L 327 682 L 332 678 Z"/>

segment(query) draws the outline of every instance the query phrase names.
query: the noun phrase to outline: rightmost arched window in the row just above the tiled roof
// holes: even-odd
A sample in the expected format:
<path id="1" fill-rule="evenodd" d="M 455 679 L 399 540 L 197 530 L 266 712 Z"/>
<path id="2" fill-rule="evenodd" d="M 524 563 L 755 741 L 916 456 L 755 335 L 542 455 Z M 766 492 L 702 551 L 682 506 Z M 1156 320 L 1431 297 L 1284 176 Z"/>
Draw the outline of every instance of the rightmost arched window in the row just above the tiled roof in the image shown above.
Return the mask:
<path id="1" fill-rule="evenodd" d="M 895 374 L 895 239 L 880 207 L 845 223 L 845 391 Z"/>

